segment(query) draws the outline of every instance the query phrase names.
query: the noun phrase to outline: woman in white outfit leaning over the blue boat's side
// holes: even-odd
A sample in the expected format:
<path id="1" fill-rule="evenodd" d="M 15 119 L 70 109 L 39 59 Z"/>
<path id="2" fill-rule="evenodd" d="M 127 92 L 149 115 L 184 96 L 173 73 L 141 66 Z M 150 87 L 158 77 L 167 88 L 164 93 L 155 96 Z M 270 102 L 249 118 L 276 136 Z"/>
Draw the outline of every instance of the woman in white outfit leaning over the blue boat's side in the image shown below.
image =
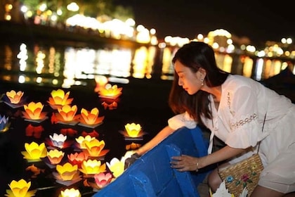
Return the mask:
<path id="1" fill-rule="evenodd" d="M 169 104 L 173 110 L 182 108 L 185 94 L 181 89 L 195 96 L 193 105 L 185 103 L 189 108 L 183 110 L 211 130 L 211 141 L 209 155 L 173 157 L 171 166 L 192 171 L 223 160 L 236 163 L 256 153 L 261 141 L 258 153 L 264 170 L 251 196 L 291 196 L 295 191 L 295 105 L 259 82 L 220 70 L 214 50 L 203 42 L 178 49 L 173 64 L 176 75 Z M 213 136 L 226 145 L 211 153 Z M 209 174 L 208 182 L 216 191 L 221 184 L 217 170 Z"/>

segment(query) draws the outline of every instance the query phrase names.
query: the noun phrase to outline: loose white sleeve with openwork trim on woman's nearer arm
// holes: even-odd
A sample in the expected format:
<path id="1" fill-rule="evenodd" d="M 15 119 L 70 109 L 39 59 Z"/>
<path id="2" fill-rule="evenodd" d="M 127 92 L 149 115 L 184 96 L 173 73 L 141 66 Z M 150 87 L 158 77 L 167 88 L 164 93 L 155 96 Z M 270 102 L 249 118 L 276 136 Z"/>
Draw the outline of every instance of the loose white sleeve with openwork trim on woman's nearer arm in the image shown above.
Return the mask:
<path id="1" fill-rule="evenodd" d="M 256 92 L 249 86 L 242 86 L 226 94 L 230 110 L 230 133 L 225 144 L 232 148 L 256 146 L 262 139 L 262 122 L 259 120 L 264 118 L 258 117 Z"/>

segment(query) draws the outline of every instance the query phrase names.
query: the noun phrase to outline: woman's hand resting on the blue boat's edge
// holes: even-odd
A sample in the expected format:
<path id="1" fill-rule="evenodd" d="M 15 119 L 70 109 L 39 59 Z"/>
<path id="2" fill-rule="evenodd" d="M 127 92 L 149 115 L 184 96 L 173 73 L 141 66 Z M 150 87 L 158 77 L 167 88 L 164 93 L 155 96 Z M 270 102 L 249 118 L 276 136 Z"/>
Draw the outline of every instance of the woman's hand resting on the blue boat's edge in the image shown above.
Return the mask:
<path id="1" fill-rule="evenodd" d="M 199 170 L 199 158 L 195 158 L 189 155 L 172 157 L 170 163 L 171 167 L 178 170 L 179 172 Z"/>

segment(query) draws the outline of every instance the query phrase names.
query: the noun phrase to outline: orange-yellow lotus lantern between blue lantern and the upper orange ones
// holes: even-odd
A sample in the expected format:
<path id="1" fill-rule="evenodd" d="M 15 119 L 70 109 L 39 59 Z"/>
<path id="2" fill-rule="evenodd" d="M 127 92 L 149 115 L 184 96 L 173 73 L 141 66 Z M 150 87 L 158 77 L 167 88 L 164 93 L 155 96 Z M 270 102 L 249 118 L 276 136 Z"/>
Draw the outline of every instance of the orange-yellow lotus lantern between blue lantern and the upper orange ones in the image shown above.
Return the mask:
<path id="1" fill-rule="evenodd" d="M 29 105 L 24 105 L 25 112 L 22 114 L 28 120 L 43 120 L 46 117 L 46 113 L 42 112 L 43 107 L 41 102 L 31 102 Z"/>

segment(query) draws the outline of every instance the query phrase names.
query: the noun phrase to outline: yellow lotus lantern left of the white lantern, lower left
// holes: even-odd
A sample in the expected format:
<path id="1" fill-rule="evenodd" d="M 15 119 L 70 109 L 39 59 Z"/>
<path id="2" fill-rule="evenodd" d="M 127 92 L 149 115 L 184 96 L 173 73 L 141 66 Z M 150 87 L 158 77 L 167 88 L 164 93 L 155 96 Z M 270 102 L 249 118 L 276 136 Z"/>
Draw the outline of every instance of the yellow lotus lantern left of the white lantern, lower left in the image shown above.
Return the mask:
<path id="1" fill-rule="evenodd" d="M 40 145 L 34 141 L 31 144 L 25 143 L 25 150 L 21 153 L 28 161 L 41 160 L 41 158 L 45 158 L 47 155 L 47 149 L 44 143 Z"/>

